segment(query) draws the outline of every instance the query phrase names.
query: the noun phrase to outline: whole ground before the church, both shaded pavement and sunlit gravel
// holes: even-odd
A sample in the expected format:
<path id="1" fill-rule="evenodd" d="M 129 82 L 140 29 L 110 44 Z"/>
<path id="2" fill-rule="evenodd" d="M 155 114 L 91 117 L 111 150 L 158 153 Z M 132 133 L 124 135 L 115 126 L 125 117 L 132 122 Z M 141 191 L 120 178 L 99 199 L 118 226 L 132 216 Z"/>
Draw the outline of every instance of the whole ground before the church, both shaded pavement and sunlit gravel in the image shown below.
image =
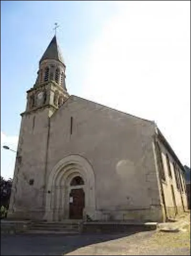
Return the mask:
<path id="1" fill-rule="evenodd" d="M 0 255 L 191 255 L 190 213 L 157 231 L 84 235 L 1 235 Z"/>

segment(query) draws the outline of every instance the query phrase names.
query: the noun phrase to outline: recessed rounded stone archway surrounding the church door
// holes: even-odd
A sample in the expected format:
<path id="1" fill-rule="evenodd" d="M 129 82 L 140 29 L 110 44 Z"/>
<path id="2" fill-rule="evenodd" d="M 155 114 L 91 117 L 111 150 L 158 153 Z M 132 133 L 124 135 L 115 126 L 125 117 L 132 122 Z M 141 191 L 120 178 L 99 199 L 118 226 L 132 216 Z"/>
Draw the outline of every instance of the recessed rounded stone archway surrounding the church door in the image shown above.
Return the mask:
<path id="1" fill-rule="evenodd" d="M 62 221 L 70 218 L 69 198 L 71 181 L 79 176 L 84 181 L 84 185 L 77 185 L 85 194 L 85 206 L 83 219 L 88 214 L 91 219 L 95 219 L 96 199 L 95 199 L 95 175 L 93 168 L 88 161 L 79 155 L 70 155 L 59 161 L 51 171 L 47 182 L 46 208 L 44 220 Z"/>

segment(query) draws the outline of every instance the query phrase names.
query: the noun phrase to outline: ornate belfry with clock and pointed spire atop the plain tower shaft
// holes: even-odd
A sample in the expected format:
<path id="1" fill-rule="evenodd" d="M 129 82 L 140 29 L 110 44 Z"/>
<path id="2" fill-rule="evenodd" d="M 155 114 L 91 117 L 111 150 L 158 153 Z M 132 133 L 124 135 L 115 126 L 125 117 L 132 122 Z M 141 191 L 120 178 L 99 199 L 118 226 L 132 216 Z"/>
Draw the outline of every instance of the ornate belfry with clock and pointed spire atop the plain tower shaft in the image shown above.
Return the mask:
<path id="1" fill-rule="evenodd" d="M 27 91 L 25 114 L 48 107 L 50 117 L 63 104 L 69 97 L 65 85 L 65 68 L 64 59 L 54 35 L 39 62 L 36 82 L 33 88 Z"/>

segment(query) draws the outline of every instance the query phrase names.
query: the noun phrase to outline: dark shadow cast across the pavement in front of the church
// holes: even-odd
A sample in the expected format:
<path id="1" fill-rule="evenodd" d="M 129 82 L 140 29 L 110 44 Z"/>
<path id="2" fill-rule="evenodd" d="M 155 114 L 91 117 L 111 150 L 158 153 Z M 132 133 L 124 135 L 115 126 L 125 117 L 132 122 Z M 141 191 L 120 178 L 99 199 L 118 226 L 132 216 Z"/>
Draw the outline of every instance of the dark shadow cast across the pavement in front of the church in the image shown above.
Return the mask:
<path id="1" fill-rule="evenodd" d="M 0 255 L 65 255 L 78 248 L 130 236 L 140 230 L 102 234 L 7 234 L 0 238 Z M 150 232 L 144 232 L 149 236 Z M 151 232 L 152 233 L 152 232 Z"/>

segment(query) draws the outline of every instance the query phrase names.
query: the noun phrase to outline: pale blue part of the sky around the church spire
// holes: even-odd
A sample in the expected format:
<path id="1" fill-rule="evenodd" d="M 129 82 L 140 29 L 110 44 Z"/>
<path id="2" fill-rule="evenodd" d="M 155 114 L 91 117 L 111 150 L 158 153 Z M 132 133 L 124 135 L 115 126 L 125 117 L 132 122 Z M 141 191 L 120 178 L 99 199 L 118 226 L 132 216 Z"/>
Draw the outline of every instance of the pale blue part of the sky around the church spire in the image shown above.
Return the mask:
<path id="1" fill-rule="evenodd" d="M 0 5 L 1 131 L 16 150 L 26 91 L 35 82 L 54 23 L 60 25 L 57 36 L 67 63 L 68 91 L 78 94 L 85 50 L 115 10 L 105 1 L 1 1 Z M 6 177 L 12 175 L 14 157 L 1 147 L 1 173 Z"/>

